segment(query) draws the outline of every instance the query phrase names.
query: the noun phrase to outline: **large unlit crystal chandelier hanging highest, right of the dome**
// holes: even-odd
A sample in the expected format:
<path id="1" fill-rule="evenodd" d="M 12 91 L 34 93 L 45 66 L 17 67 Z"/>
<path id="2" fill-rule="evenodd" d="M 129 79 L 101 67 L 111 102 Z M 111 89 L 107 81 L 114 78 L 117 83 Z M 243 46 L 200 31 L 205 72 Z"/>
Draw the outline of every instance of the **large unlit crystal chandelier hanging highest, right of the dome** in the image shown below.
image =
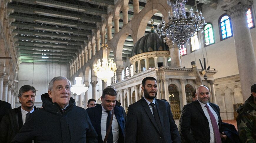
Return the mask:
<path id="1" fill-rule="evenodd" d="M 158 34 L 163 38 L 171 39 L 173 46 L 181 47 L 195 35 L 195 32 L 198 32 L 206 25 L 201 11 L 198 13 L 197 10 L 193 13 L 191 8 L 189 16 L 186 15 L 186 2 L 187 0 L 167 0 L 167 4 L 172 7 L 172 16 L 169 11 L 169 22 L 165 23 L 164 18 L 162 18 L 162 23 L 157 25 Z"/>

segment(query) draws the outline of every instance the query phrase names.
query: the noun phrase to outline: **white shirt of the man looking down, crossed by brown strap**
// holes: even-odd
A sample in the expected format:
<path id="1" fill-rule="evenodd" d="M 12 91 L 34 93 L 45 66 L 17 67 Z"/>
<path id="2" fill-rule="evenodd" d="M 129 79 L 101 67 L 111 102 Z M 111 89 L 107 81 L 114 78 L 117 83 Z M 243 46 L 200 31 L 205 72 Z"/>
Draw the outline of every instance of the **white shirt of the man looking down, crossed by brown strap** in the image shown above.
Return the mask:
<path id="1" fill-rule="evenodd" d="M 104 138 L 107 134 L 107 117 L 108 113 L 106 110 L 102 107 L 102 113 L 101 113 L 101 122 L 100 122 L 100 128 L 101 128 L 101 136 L 102 140 L 104 141 Z M 112 111 L 110 112 L 112 114 Z M 117 123 L 117 118 L 114 114 L 113 116 L 113 121 L 112 121 L 112 133 L 113 133 L 113 143 L 118 143 L 118 138 L 119 138 L 119 127 Z"/>

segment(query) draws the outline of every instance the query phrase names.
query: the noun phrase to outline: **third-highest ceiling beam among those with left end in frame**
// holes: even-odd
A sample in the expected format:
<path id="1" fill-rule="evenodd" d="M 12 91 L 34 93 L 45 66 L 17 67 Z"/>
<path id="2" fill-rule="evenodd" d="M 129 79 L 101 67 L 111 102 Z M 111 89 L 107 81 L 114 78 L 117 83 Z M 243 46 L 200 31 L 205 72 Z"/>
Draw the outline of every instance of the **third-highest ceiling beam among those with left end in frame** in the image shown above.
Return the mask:
<path id="1" fill-rule="evenodd" d="M 12 26 L 16 26 L 17 28 L 29 29 L 29 30 L 44 30 L 49 32 L 59 32 L 59 33 L 68 33 L 74 35 L 82 35 L 87 36 L 92 34 L 90 31 L 84 30 L 73 30 L 70 28 L 61 28 L 61 27 L 51 27 L 51 26 L 43 26 L 43 25 L 36 25 L 36 24 L 27 24 L 27 23 L 11 23 Z"/>

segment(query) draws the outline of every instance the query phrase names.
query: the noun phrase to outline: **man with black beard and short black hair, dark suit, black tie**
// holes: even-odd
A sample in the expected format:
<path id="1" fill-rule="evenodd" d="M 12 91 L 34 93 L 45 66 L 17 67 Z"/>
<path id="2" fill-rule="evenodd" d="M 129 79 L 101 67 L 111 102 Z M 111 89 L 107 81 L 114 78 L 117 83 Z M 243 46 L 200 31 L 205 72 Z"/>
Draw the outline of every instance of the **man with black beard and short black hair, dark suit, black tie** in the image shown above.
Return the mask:
<path id="1" fill-rule="evenodd" d="M 125 143 L 180 143 L 168 102 L 155 99 L 157 80 L 142 80 L 144 96 L 128 107 Z"/>

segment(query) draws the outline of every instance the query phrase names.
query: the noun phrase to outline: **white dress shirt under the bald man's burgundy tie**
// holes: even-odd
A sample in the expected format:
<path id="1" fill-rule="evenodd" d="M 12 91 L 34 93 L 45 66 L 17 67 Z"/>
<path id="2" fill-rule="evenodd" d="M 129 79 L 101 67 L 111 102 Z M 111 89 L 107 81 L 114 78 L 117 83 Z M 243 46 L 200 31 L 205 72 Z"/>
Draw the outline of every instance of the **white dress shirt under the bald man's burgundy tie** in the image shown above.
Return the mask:
<path id="1" fill-rule="evenodd" d="M 199 101 L 199 103 L 200 103 L 200 105 L 201 105 L 201 107 L 202 107 L 202 109 L 203 109 L 203 111 L 205 113 L 206 118 L 208 119 L 209 128 L 210 128 L 210 137 L 211 137 L 210 143 L 215 143 L 214 132 L 213 132 L 213 128 L 212 128 L 212 122 L 211 122 L 210 115 L 209 115 L 209 113 L 207 111 L 207 108 L 205 107 L 206 104 L 201 103 L 200 101 Z M 213 108 L 209 105 L 209 103 L 207 103 L 207 105 L 209 106 L 210 111 L 214 115 L 215 120 L 217 122 L 217 125 L 219 127 L 219 118 L 218 118 L 217 113 L 213 110 Z"/>

